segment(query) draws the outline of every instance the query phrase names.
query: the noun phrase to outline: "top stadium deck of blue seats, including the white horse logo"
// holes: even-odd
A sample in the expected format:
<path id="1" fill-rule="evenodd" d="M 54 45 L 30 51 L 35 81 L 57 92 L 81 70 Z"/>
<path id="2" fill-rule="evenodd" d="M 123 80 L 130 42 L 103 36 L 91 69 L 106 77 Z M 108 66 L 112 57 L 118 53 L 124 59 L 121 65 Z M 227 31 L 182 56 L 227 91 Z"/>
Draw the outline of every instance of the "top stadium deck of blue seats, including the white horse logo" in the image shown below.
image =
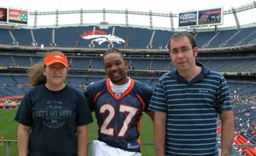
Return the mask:
<path id="1" fill-rule="evenodd" d="M 0 44 L 7 45 L 44 45 L 54 47 L 81 48 L 152 48 L 166 49 L 168 40 L 174 32 L 170 30 L 150 30 L 149 27 L 122 27 L 109 25 L 102 29 L 100 25 L 0 28 Z M 193 33 L 193 32 L 191 32 Z M 256 25 L 198 30 L 193 33 L 198 48 L 225 48 L 231 46 L 255 45 Z"/>

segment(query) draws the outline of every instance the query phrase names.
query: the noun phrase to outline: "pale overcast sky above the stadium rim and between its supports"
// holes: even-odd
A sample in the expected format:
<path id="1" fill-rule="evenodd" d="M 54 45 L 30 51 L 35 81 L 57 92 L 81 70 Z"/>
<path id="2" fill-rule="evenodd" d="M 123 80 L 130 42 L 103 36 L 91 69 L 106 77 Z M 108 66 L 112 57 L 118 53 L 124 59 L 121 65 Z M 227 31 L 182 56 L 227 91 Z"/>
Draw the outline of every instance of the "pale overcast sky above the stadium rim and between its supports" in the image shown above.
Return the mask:
<path id="1" fill-rule="evenodd" d="M 139 12 L 152 12 L 176 14 L 178 12 L 190 11 L 195 9 L 208 9 L 223 6 L 224 10 L 231 9 L 231 7 L 243 6 L 252 3 L 252 0 L 215 0 L 215 1 L 201 1 L 201 0 L 3 0 L 1 6 L 12 7 L 17 9 L 27 9 L 29 12 L 48 12 L 48 11 L 68 11 L 68 10 L 95 10 L 95 9 L 114 9 L 139 11 Z M 250 9 L 245 12 L 239 12 L 240 25 L 256 22 L 255 19 L 256 9 Z M 102 14 L 83 14 L 84 23 L 99 23 L 102 22 Z M 131 25 L 146 25 L 149 26 L 148 16 L 128 15 L 129 24 Z M 236 21 L 234 14 L 225 15 L 225 27 L 235 26 Z M 29 25 L 33 25 L 34 17 L 29 16 Z M 125 24 L 125 14 L 106 14 L 106 22 L 115 24 Z M 80 14 L 67 14 L 59 15 L 59 25 L 64 24 L 77 24 L 80 23 Z M 167 17 L 153 17 L 153 26 L 156 27 L 170 27 L 170 18 Z M 38 25 L 54 25 L 55 15 L 52 16 L 38 16 Z M 223 27 L 222 26 L 222 27 Z M 178 27 L 178 18 L 174 19 L 174 27 Z"/>

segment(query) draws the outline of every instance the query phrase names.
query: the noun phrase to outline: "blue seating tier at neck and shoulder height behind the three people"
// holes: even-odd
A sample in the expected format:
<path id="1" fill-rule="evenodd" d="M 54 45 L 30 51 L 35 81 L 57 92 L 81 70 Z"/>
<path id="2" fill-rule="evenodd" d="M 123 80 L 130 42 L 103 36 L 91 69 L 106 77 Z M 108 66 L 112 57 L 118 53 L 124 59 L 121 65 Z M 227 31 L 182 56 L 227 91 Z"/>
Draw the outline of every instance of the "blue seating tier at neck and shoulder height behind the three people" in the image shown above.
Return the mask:
<path id="1" fill-rule="evenodd" d="M 91 82 L 99 81 L 100 79 L 104 79 L 104 77 L 67 77 L 67 84 L 80 85 L 78 88 L 83 88 L 83 84 L 89 84 Z M 157 79 L 137 79 L 145 84 L 149 84 L 153 88 L 157 84 Z M 0 76 L 0 84 L 28 84 L 27 76 Z M 256 82 L 252 84 L 252 82 L 239 82 L 239 81 L 229 81 L 228 87 L 231 92 L 232 97 L 245 97 L 249 98 L 254 95 L 256 92 Z M 29 90 L 30 87 L 1 87 L 0 93 L 2 95 L 24 95 L 26 91 Z M 1 97 L 1 95 L 0 95 Z"/>

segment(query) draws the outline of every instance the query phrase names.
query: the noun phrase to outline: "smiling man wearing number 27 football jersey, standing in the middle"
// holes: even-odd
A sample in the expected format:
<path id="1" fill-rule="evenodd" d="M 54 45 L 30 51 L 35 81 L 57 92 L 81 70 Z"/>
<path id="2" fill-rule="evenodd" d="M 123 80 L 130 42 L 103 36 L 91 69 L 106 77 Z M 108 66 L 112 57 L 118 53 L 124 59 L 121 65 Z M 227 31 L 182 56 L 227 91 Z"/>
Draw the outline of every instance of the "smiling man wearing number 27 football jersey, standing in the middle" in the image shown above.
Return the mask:
<path id="1" fill-rule="evenodd" d="M 140 120 L 148 110 L 152 87 L 127 77 L 128 62 L 117 49 L 103 57 L 108 79 L 90 84 L 84 94 L 91 111 L 95 111 L 99 140 L 92 142 L 93 156 L 141 155 Z"/>

